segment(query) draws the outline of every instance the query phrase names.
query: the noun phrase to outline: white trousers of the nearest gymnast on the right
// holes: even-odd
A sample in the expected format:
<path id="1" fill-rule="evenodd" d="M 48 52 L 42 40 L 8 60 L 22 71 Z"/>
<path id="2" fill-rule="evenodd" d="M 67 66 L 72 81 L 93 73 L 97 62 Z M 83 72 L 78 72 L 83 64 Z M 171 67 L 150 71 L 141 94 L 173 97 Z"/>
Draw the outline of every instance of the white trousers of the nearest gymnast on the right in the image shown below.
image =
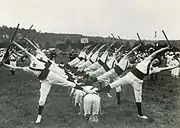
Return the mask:
<path id="1" fill-rule="evenodd" d="M 142 83 L 143 80 L 138 79 L 134 74 L 129 72 L 125 76 L 111 83 L 110 87 L 115 88 L 130 84 L 133 87 L 136 102 L 142 102 Z"/>

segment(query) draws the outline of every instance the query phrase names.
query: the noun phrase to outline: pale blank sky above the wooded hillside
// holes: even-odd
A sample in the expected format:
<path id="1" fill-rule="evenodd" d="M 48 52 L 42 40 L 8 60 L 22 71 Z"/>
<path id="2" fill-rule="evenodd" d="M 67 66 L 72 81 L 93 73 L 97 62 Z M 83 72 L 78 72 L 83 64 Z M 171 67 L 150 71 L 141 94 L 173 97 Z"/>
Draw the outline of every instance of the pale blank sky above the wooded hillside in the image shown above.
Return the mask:
<path id="1" fill-rule="evenodd" d="M 180 39 L 180 0 L 0 0 L 0 26 L 123 39 Z"/>

